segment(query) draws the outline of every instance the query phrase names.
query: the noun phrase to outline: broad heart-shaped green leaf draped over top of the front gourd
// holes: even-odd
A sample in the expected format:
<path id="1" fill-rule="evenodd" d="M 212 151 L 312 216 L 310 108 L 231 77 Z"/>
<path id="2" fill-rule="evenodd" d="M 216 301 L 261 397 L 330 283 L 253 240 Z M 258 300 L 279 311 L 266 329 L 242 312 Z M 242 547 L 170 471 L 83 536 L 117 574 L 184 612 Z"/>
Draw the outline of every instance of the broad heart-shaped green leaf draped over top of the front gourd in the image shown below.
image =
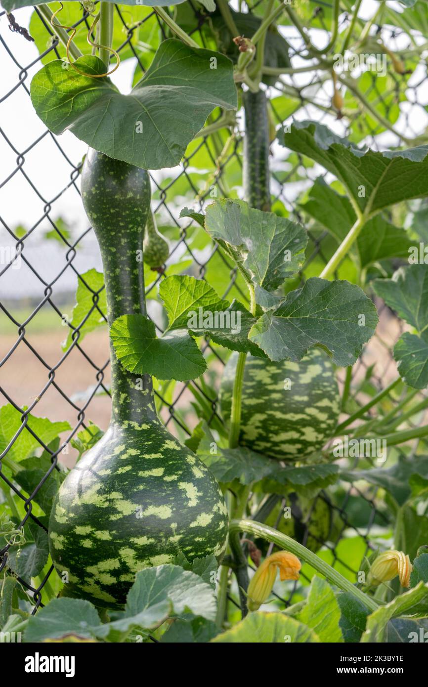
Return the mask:
<path id="1" fill-rule="evenodd" d="M 105 71 L 95 56 L 75 64 L 94 76 Z M 31 98 L 53 133 L 69 129 L 95 150 L 146 169 L 179 164 L 212 110 L 237 105 L 232 62 L 175 38 L 161 43 L 129 95 L 109 78 L 82 76 L 55 60 L 32 79 Z"/>

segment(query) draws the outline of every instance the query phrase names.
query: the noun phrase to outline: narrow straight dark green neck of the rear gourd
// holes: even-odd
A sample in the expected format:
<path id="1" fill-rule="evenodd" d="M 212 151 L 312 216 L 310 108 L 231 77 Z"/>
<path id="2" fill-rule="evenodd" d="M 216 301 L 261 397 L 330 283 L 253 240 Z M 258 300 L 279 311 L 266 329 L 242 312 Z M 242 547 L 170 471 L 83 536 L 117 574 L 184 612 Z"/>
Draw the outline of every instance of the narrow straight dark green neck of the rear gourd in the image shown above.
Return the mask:
<path id="1" fill-rule="evenodd" d="M 244 197 L 251 207 L 269 212 L 269 117 L 264 91 L 243 93 L 245 111 Z"/>

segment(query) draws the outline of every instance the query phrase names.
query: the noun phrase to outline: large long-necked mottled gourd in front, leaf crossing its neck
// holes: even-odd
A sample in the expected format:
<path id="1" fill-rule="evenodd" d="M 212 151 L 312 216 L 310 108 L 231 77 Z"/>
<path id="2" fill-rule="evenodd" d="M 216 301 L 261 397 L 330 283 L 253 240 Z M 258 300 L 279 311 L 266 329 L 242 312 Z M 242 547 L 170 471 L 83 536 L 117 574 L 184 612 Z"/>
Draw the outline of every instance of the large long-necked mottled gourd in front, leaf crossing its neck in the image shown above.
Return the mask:
<path id="1" fill-rule="evenodd" d="M 82 199 L 100 243 L 109 323 L 146 315 L 142 248 L 150 209 L 145 170 L 89 150 Z M 126 372 L 111 345 L 111 424 L 67 475 L 49 521 L 56 570 L 67 596 L 120 607 L 135 573 L 168 563 L 220 557 L 227 508 L 212 473 L 161 425 L 150 375 Z"/>

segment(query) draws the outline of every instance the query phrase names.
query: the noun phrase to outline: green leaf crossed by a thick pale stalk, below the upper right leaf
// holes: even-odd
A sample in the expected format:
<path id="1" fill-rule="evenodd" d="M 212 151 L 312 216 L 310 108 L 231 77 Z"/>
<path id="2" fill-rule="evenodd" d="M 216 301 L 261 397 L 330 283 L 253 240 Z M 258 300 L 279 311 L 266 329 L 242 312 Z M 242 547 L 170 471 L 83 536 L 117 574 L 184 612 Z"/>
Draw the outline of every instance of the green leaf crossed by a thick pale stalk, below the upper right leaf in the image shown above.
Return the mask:
<path id="1" fill-rule="evenodd" d="M 338 243 L 345 238 L 357 218 L 348 198 L 339 195 L 322 177 L 316 179 L 302 208 L 326 227 Z M 381 215 L 376 215 L 361 229 L 355 247 L 361 267 L 367 267 L 387 258 L 407 258 L 413 243 L 404 229 L 398 229 Z"/>

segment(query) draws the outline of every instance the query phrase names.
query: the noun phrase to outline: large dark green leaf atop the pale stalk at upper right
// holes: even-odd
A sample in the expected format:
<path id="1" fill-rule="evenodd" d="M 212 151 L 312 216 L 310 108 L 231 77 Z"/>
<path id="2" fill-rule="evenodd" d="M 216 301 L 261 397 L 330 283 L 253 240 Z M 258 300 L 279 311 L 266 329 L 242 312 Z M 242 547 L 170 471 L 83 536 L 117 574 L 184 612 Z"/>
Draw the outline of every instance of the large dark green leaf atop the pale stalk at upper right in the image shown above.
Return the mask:
<path id="1" fill-rule="evenodd" d="M 343 183 L 355 205 L 376 214 L 383 207 L 428 196 L 428 146 L 361 150 L 317 122 L 294 122 L 280 143 L 310 157 Z"/>

